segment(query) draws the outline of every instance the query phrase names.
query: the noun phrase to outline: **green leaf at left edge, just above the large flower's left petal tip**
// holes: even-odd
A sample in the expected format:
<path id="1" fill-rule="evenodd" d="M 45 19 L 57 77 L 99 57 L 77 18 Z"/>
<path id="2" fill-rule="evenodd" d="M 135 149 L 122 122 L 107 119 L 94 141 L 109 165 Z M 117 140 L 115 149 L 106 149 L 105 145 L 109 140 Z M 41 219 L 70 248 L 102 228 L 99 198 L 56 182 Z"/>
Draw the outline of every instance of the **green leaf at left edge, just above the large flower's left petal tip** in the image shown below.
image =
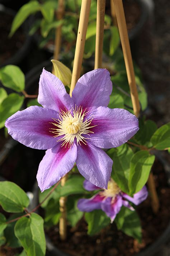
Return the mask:
<path id="1" fill-rule="evenodd" d="M 11 93 L 0 104 L 0 128 L 4 127 L 5 121 L 12 114 L 16 113 L 22 107 L 24 96 Z"/>

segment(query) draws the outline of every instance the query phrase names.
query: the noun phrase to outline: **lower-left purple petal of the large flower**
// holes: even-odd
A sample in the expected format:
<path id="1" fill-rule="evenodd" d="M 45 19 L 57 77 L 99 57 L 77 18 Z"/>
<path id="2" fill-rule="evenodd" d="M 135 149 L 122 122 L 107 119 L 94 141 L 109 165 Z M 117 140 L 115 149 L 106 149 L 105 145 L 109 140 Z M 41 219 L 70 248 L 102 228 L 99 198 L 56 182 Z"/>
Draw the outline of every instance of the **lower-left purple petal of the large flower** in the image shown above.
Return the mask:
<path id="1" fill-rule="evenodd" d="M 77 157 L 77 146 L 71 148 L 61 147 L 58 143 L 56 147 L 46 151 L 43 160 L 39 164 L 37 181 L 38 186 L 43 192 L 56 184 L 67 172 L 69 172 Z"/>

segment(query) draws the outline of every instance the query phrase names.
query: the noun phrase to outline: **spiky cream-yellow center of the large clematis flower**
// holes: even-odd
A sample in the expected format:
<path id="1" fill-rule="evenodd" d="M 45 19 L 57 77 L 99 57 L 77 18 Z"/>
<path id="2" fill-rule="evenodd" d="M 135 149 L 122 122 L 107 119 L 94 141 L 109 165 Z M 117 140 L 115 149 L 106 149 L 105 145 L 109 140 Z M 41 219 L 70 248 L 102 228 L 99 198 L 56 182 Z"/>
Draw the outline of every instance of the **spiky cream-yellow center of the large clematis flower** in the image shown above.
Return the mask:
<path id="1" fill-rule="evenodd" d="M 58 141 L 63 141 L 61 144 L 65 147 L 68 145 L 71 147 L 74 143 L 74 139 L 77 140 L 77 145 L 81 142 L 86 145 L 87 140 L 90 138 L 84 137 L 84 135 L 89 135 L 89 133 L 94 133 L 89 129 L 95 127 L 90 126 L 93 118 L 85 119 L 85 116 L 88 112 L 86 110 L 82 112 L 82 107 L 76 107 L 73 110 L 73 114 L 71 114 L 71 110 L 63 111 L 59 113 L 59 119 L 52 118 L 55 122 L 52 122 L 56 128 L 50 128 L 50 132 L 55 134 L 54 138 L 58 136 L 62 136 Z M 90 136 L 90 135 L 89 135 Z"/>

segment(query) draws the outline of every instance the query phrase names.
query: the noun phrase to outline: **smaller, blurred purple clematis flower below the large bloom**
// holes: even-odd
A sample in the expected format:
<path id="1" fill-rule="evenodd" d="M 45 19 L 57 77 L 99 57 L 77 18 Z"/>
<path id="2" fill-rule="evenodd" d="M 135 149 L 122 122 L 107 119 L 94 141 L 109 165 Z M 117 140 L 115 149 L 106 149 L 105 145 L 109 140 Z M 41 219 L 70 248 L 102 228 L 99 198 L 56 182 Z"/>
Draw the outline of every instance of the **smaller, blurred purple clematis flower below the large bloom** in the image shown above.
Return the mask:
<path id="1" fill-rule="evenodd" d="M 96 187 L 88 180 L 84 181 L 84 188 L 88 191 L 100 191 L 90 199 L 80 199 L 77 203 L 79 210 L 91 212 L 101 209 L 110 218 L 111 223 L 114 221 L 122 206 L 128 207 L 130 210 L 134 211 L 134 208 L 128 201 L 131 201 L 134 205 L 139 205 L 148 196 L 147 188 L 144 186 L 138 193 L 134 194 L 133 197 L 130 197 L 121 191 L 113 179 L 109 180 L 108 189 L 101 190 L 101 188 Z"/>

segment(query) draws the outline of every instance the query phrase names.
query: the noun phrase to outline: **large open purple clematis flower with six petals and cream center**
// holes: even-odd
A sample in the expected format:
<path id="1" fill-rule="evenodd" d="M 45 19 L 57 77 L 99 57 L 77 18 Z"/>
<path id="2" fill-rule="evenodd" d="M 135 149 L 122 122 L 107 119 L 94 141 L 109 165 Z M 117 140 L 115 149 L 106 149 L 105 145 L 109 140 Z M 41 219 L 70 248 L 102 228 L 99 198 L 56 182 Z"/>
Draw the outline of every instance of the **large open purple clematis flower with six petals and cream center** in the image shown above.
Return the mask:
<path id="1" fill-rule="evenodd" d="M 107 188 L 113 161 L 101 148 L 127 142 L 138 131 L 138 119 L 127 110 L 109 109 L 110 74 L 95 69 L 83 75 L 72 92 L 43 69 L 38 102 L 9 117 L 9 134 L 30 148 L 47 149 L 37 180 L 41 191 L 57 183 L 76 162 L 91 183 Z"/>

